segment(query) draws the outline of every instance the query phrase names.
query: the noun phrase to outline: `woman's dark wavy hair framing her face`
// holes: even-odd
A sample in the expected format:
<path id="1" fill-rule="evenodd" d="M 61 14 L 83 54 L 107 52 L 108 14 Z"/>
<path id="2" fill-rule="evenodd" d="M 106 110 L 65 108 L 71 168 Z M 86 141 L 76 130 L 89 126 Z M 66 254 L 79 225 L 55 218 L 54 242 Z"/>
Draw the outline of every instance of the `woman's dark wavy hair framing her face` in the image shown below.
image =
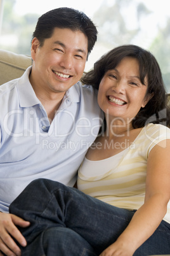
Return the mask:
<path id="1" fill-rule="evenodd" d="M 117 67 L 124 57 L 134 57 L 140 66 L 140 80 L 145 85 L 147 78 L 147 94 L 154 96 L 148 101 L 145 108 L 141 108 L 133 119 L 133 127 L 144 127 L 148 123 L 163 124 L 169 126 L 170 114 L 167 106 L 166 90 L 162 80 L 159 64 L 152 53 L 136 45 L 122 45 L 110 50 L 99 59 L 94 68 L 82 78 L 82 83 L 93 85 L 98 89 L 105 73 Z"/>

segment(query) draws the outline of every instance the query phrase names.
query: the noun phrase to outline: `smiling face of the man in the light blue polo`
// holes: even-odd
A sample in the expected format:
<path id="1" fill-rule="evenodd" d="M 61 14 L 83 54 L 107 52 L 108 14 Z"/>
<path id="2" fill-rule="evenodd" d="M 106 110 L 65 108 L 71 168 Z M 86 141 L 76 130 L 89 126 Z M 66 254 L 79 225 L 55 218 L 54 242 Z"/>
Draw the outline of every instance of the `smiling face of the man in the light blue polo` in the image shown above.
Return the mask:
<path id="1" fill-rule="evenodd" d="M 87 55 L 88 39 L 81 31 L 55 28 L 51 38 L 45 39 L 42 46 L 34 38 L 31 48 L 34 62 L 30 75 L 33 88 L 63 96 L 80 80 Z"/>

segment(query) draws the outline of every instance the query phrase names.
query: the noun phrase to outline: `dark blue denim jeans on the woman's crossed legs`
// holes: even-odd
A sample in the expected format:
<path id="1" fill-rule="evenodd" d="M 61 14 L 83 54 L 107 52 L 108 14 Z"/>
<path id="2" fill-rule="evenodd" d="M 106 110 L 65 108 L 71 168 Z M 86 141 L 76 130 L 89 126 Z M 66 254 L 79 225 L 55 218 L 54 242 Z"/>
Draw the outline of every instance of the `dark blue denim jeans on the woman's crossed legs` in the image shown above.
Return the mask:
<path id="1" fill-rule="evenodd" d="M 20 228 L 27 239 L 22 255 L 99 255 L 126 229 L 134 211 L 110 206 L 76 188 L 39 179 L 10 206 L 10 213 L 29 220 Z M 162 221 L 135 256 L 169 254 L 170 225 Z"/>

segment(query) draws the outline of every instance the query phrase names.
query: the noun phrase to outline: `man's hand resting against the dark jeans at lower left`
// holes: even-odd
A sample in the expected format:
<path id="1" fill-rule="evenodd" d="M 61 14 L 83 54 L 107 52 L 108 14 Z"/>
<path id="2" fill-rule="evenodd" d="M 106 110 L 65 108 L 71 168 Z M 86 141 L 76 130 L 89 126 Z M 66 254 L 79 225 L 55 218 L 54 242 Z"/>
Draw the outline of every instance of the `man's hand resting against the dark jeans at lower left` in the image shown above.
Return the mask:
<path id="1" fill-rule="evenodd" d="M 3 255 L 1 252 L 7 256 L 21 255 L 21 250 L 16 245 L 13 238 L 15 238 L 20 245 L 27 245 L 25 238 L 17 229 L 16 225 L 20 227 L 28 227 L 30 222 L 26 222 L 16 215 L 0 212 L 0 256 Z"/>

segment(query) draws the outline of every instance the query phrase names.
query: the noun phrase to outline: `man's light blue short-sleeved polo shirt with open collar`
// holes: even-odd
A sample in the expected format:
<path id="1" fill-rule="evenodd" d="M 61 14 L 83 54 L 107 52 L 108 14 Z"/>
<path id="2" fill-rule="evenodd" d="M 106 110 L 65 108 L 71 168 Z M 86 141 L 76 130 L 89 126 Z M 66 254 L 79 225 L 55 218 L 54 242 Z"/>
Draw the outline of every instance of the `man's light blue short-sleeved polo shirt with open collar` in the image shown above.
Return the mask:
<path id="1" fill-rule="evenodd" d="M 29 82 L 30 70 L 0 86 L 0 211 L 8 211 L 37 178 L 73 186 L 103 120 L 96 90 L 78 82 L 65 93 L 49 124 Z"/>

